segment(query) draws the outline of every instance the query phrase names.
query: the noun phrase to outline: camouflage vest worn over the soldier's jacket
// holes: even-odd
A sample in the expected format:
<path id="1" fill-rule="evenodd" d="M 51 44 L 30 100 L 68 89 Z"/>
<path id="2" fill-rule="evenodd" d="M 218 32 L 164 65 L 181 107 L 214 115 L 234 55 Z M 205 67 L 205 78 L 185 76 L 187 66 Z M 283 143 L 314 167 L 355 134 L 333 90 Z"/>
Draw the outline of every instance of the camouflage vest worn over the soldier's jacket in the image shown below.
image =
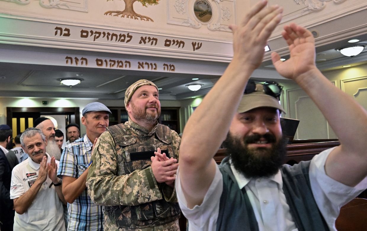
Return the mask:
<path id="1" fill-rule="evenodd" d="M 167 150 L 166 154 L 168 152 L 170 157 L 177 158 L 172 146 L 171 130 L 167 126 L 157 124 L 152 136 L 138 136 L 125 124 L 110 126 L 107 130 L 115 141 L 116 148 L 122 149 L 122 154 L 117 155 L 117 176 L 149 167 L 152 163 L 149 155 L 157 148 Z M 105 206 L 105 210 L 110 220 L 115 220 L 116 225 L 122 228 L 162 225 L 177 220 L 180 216 L 178 203 L 170 203 L 164 199 L 137 206 Z"/>

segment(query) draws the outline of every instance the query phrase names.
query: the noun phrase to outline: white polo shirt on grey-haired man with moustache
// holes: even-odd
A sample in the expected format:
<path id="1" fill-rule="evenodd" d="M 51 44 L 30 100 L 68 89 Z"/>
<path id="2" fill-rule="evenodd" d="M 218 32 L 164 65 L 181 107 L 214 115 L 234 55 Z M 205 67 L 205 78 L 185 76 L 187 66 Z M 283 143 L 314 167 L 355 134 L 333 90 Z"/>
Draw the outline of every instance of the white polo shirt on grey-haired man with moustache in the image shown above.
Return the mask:
<path id="1" fill-rule="evenodd" d="M 46 155 L 47 163 L 50 163 L 51 157 L 47 153 Z M 59 166 L 57 160 L 56 164 Z M 40 164 L 33 162 L 30 157 L 14 167 L 11 174 L 10 199 L 19 198 L 29 190 L 37 180 L 39 169 Z M 51 183 L 52 180 L 47 177 L 28 210 L 23 214 L 15 212 L 14 230 L 65 230 L 62 202 L 55 186 L 49 188 Z"/>

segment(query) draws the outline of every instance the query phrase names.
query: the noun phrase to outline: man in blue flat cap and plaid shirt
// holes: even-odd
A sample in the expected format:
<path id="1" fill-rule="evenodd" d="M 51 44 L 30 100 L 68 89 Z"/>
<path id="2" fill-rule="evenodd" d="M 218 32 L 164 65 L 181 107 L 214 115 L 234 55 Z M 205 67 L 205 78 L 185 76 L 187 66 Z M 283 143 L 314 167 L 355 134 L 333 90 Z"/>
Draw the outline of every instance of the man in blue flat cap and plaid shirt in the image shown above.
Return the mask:
<path id="1" fill-rule="evenodd" d="M 103 230 L 102 206 L 93 203 L 88 196 L 86 179 L 93 142 L 106 131 L 110 113 L 100 102 L 86 105 L 81 117 L 86 135 L 68 144 L 62 152 L 58 176 L 62 178 L 62 193 L 68 202 L 69 231 Z"/>

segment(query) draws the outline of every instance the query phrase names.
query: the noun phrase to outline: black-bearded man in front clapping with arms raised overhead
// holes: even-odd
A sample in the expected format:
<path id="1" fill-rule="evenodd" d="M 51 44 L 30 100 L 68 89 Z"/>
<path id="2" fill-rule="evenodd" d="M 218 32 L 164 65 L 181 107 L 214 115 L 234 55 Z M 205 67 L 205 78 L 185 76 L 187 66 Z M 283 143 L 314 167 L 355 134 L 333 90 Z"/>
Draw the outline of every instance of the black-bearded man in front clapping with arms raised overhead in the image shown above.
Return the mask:
<path id="1" fill-rule="evenodd" d="M 367 112 L 316 68 L 312 33 L 295 24 L 282 32 L 290 59 L 272 53 L 273 64 L 306 91 L 341 145 L 282 165 L 281 87 L 249 81 L 283 11 L 266 5 L 230 26 L 233 60 L 183 131 L 176 190 L 189 230 L 335 230 L 340 207 L 367 187 Z M 223 140 L 229 156 L 218 166 Z"/>

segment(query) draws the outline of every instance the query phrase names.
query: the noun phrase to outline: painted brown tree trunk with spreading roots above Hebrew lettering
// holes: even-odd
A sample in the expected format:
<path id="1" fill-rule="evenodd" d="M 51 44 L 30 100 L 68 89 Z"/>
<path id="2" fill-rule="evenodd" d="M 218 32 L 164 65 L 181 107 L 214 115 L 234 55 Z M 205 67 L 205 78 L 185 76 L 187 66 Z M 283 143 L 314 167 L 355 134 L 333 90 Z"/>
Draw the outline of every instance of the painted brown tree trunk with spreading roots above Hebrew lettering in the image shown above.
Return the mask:
<path id="1" fill-rule="evenodd" d="M 113 1 L 113 0 L 107 0 L 107 1 Z M 135 1 L 139 1 L 143 6 L 148 7 L 148 5 L 157 5 L 159 0 L 123 0 L 125 2 L 125 9 L 123 11 L 106 11 L 105 15 L 112 15 L 113 16 L 120 16 L 126 17 L 126 18 L 133 18 L 133 19 L 139 19 L 144 21 L 152 21 L 153 19 L 137 14 L 137 12 L 134 11 L 133 4 Z"/>

